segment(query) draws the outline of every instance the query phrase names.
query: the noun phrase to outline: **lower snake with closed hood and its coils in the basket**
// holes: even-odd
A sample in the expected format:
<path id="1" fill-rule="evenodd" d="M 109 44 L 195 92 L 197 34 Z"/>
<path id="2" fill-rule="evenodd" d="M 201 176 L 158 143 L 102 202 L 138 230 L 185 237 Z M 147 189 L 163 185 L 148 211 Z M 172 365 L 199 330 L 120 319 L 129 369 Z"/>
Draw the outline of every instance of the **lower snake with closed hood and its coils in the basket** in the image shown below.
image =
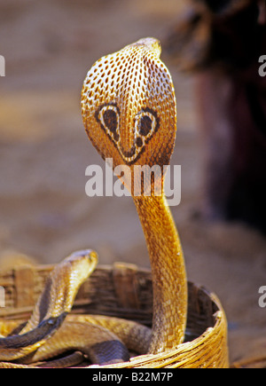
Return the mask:
<path id="1" fill-rule="evenodd" d="M 129 359 L 125 345 L 104 327 L 100 317 L 69 315 L 78 289 L 97 263 L 96 252 L 83 250 L 55 267 L 26 325 L 8 320 L 0 323 L 5 335 L 0 338 L 0 361 L 35 363 L 71 350 L 82 351 L 99 364 Z M 117 321 L 105 317 L 105 326 L 108 323 L 115 328 Z"/>

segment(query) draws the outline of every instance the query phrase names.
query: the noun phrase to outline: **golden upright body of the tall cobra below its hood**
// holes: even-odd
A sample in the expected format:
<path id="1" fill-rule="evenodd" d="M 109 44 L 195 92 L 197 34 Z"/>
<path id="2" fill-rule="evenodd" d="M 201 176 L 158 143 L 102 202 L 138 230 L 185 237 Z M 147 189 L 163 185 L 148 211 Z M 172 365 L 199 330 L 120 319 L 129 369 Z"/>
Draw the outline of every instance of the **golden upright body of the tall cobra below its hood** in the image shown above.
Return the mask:
<path id="1" fill-rule="evenodd" d="M 145 233 L 153 274 L 153 335 L 149 353 L 184 340 L 187 282 L 182 246 L 164 194 L 133 198 Z"/>

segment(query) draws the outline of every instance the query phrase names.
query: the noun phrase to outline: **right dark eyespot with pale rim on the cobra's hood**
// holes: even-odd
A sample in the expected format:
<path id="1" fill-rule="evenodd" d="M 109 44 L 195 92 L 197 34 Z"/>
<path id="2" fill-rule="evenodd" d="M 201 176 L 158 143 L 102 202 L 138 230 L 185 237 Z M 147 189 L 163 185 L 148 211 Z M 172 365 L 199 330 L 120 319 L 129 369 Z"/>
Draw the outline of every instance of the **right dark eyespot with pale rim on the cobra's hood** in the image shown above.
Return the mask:
<path id="1" fill-rule="evenodd" d="M 137 131 L 137 146 L 147 143 L 160 126 L 160 120 L 157 113 L 151 108 L 144 108 L 136 116 L 135 128 Z"/>

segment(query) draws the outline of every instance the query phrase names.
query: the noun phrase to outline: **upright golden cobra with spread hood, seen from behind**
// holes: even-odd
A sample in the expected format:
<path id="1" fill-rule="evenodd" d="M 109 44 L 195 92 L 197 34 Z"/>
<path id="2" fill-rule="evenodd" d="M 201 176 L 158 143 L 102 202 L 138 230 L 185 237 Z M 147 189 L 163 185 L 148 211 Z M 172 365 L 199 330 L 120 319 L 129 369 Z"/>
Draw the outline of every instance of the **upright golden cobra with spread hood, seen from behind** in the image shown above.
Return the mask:
<path id="1" fill-rule="evenodd" d="M 112 158 L 113 168 L 131 169 L 123 183 L 137 208 L 153 274 L 149 352 L 160 353 L 183 341 L 187 289 L 183 250 L 163 193 L 163 177 L 154 173 L 151 194 L 145 195 L 141 187 L 137 191 L 142 193 L 134 196 L 134 167 L 159 165 L 162 170 L 175 145 L 174 86 L 160 60 L 157 39 L 129 44 L 90 68 L 82 88 L 82 118 L 98 153 L 105 160 Z"/>

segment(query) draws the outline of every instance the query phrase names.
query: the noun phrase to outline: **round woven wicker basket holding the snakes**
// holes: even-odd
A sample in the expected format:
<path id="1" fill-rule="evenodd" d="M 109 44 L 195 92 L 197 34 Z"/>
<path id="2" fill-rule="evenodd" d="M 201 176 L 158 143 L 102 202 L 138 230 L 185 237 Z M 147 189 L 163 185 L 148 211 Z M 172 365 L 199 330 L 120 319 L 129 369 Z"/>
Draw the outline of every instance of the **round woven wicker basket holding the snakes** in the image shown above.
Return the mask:
<path id="1" fill-rule="evenodd" d="M 5 306 L 0 308 L 0 318 L 27 319 L 52 268 L 52 265 L 27 265 L 2 272 L 0 286 L 4 288 Z M 136 265 L 99 266 L 80 288 L 73 312 L 110 315 L 151 326 L 152 287 L 151 272 Z M 138 356 L 109 367 L 228 367 L 227 324 L 219 300 L 193 283 L 189 283 L 188 289 L 185 343 L 175 350 Z"/>

